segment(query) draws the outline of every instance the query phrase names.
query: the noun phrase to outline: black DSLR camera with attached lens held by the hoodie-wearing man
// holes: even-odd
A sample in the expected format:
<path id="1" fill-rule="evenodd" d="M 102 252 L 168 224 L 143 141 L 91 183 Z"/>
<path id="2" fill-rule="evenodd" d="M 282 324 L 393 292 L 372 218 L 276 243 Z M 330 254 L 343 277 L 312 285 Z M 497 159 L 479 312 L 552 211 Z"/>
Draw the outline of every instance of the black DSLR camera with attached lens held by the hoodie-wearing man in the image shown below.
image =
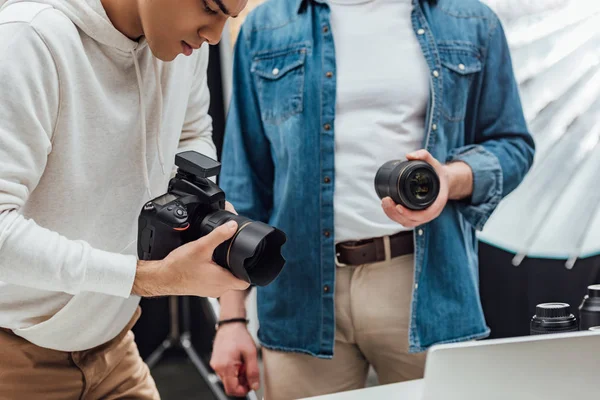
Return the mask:
<path id="1" fill-rule="evenodd" d="M 138 220 L 138 257 L 161 260 L 177 247 L 208 235 L 234 220 L 233 237 L 217 246 L 213 260 L 237 278 L 266 286 L 281 272 L 281 247 L 286 235 L 279 229 L 225 211 L 225 193 L 208 178 L 221 164 L 195 151 L 175 156 L 177 174 L 167 193 L 147 202 Z"/>

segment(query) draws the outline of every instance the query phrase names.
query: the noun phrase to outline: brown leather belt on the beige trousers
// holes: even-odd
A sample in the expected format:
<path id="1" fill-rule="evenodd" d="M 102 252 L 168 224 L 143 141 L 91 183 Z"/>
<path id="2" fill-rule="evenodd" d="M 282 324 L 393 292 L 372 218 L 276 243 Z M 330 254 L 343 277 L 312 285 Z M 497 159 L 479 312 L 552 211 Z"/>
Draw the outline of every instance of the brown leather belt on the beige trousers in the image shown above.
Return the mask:
<path id="1" fill-rule="evenodd" d="M 383 237 L 343 242 L 335 246 L 338 266 L 362 265 L 385 261 L 385 244 Z M 413 232 L 404 231 L 390 236 L 391 258 L 414 252 Z"/>

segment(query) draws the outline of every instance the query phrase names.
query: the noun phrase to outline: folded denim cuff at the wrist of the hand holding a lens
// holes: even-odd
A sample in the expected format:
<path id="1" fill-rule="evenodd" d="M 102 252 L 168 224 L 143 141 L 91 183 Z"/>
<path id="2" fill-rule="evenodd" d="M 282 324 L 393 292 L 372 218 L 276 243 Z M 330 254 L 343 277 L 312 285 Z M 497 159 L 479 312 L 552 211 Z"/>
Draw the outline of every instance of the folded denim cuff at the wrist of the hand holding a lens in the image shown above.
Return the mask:
<path id="1" fill-rule="evenodd" d="M 459 211 L 477 230 L 482 230 L 502 199 L 502 167 L 498 158 L 481 145 L 453 150 L 447 162 L 463 161 L 473 171 L 470 202 L 459 202 Z"/>

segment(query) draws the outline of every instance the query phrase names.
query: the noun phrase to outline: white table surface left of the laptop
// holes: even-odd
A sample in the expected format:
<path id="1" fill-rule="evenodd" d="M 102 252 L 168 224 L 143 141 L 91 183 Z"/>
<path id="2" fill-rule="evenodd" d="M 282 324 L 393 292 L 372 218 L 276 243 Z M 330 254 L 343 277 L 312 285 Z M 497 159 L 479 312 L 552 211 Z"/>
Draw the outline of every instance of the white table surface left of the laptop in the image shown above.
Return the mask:
<path id="1" fill-rule="evenodd" d="M 423 380 L 393 383 L 375 386 L 367 389 L 351 390 L 326 396 L 311 397 L 310 400 L 367 400 L 395 399 L 420 400 L 423 395 Z"/>

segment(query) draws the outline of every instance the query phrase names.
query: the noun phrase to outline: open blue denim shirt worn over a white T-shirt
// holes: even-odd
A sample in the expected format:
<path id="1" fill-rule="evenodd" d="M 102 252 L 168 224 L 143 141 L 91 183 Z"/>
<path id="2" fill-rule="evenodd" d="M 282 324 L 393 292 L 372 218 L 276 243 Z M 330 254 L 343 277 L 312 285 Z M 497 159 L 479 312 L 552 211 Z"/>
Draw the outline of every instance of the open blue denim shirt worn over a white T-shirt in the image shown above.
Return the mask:
<path id="1" fill-rule="evenodd" d="M 430 69 L 423 148 L 473 171 L 468 200 L 448 202 L 438 218 L 414 229 L 408 345 L 419 352 L 489 335 L 476 230 L 521 182 L 534 144 L 498 18 L 477 0 L 413 4 L 414 33 Z M 336 59 L 329 13 L 323 0 L 270 0 L 248 16 L 236 43 L 221 174 L 241 215 L 288 235 L 286 266 L 258 288 L 261 344 L 321 358 L 333 356 L 335 342 Z"/>

